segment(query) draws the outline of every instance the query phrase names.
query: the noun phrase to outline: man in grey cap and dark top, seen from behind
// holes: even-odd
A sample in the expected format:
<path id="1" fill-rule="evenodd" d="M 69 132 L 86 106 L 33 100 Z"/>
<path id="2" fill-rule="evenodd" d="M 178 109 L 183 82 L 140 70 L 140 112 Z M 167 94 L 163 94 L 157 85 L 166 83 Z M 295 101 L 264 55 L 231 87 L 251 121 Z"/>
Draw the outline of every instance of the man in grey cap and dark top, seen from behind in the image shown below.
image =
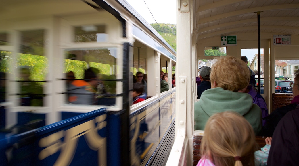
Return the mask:
<path id="1" fill-rule="evenodd" d="M 211 89 L 210 73 L 211 68 L 208 66 L 204 66 L 200 69 L 199 78 L 201 83 L 197 86 L 197 99 L 200 99 L 203 91 Z"/>

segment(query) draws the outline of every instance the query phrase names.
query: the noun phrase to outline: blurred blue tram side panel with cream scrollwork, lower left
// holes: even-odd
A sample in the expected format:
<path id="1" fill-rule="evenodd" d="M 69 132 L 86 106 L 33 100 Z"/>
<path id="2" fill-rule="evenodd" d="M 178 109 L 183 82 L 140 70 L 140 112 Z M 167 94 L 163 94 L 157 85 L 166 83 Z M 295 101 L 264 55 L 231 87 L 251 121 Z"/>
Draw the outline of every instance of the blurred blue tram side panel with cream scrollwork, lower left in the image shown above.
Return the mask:
<path id="1" fill-rule="evenodd" d="M 2 135 L 0 165 L 120 165 L 119 126 L 117 115 L 99 109 L 22 134 Z"/>

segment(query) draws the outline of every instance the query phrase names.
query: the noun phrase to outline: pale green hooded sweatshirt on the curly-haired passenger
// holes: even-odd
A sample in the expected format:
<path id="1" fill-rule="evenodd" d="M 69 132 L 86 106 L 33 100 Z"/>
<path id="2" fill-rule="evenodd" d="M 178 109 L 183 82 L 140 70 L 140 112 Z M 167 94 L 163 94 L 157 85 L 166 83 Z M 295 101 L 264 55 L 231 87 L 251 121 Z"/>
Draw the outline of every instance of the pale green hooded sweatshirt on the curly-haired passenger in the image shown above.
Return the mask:
<path id="1" fill-rule="evenodd" d="M 255 134 L 262 129 L 262 112 L 259 106 L 252 103 L 251 95 L 221 87 L 205 90 L 194 104 L 194 129 L 204 130 L 210 116 L 224 111 L 238 112 L 248 120 Z"/>

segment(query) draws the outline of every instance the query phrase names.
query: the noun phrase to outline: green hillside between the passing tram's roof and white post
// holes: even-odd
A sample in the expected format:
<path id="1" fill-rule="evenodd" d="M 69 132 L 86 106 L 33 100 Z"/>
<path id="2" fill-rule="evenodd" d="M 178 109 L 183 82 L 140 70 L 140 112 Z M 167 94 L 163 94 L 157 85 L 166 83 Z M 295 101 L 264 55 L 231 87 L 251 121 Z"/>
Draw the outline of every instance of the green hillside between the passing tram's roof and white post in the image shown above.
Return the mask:
<path id="1" fill-rule="evenodd" d="M 176 25 L 150 24 L 176 50 Z M 163 33 L 164 32 L 164 33 Z"/>

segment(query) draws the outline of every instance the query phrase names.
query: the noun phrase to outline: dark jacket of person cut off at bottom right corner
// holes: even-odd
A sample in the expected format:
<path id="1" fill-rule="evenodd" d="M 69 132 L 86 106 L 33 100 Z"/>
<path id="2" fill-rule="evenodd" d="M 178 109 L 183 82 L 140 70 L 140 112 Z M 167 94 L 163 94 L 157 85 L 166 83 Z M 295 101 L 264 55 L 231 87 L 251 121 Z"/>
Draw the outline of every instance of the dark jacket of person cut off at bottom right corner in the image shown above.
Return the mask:
<path id="1" fill-rule="evenodd" d="M 277 124 L 267 165 L 299 165 L 299 106 Z"/>

